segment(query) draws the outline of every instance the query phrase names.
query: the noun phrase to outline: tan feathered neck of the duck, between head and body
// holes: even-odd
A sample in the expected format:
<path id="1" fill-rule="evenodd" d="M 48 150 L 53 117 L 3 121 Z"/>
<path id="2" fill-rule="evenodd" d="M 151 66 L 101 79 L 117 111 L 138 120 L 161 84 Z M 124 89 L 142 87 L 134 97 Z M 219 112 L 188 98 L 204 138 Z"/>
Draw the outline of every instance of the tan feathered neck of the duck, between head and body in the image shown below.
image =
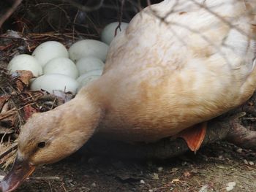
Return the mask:
<path id="1" fill-rule="evenodd" d="M 64 131 L 72 150 L 78 150 L 94 134 L 102 118 L 102 109 L 87 91 L 78 93 L 74 99 L 56 108 L 59 126 Z M 61 112 L 60 112 L 61 111 Z M 70 144 L 71 145 L 71 144 Z"/>

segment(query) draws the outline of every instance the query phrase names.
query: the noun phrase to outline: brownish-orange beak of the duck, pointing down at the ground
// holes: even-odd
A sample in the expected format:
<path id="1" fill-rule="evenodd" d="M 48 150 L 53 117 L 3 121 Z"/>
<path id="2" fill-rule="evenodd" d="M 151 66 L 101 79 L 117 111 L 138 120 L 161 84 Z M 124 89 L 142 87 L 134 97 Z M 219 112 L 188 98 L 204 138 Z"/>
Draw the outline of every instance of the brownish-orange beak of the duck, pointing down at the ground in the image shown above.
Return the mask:
<path id="1" fill-rule="evenodd" d="M 34 172 L 34 169 L 35 166 L 32 166 L 29 162 L 20 160 L 17 157 L 11 171 L 1 181 L 0 190 L 2 192 L 14 191 Z"/>

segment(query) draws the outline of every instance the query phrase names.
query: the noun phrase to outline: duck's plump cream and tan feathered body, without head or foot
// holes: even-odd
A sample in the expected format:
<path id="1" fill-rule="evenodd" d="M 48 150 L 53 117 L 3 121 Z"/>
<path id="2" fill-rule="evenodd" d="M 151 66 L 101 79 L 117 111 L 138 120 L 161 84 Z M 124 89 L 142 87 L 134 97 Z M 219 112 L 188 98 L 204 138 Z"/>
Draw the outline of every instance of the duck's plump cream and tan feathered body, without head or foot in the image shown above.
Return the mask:
<path id="1" fill-rule="evenodd" d="M 175 2 L 138 13 L 110 45 L 102 77 L 78 93 L 102 102 L 99 135 L 153 142 L 237 107 L 255 91 L 245 2 Z"/>

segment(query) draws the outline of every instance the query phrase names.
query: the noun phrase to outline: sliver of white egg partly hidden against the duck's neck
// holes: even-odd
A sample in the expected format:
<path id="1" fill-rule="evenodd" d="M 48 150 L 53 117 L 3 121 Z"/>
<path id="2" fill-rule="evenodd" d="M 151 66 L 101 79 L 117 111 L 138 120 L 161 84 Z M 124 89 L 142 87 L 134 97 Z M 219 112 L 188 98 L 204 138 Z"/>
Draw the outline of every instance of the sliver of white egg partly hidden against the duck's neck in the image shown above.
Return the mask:
<path id="1" fill-rule="evenodd" d="M 102 72 L 102 69 L 98 69 L 90 71 L 86 74 L 82 74 L 80 77 L 78 77 L 78 90 L 83 86 L 87 85 L 89 82 L 99 79 L 99 77 L 102 75 Z"/>

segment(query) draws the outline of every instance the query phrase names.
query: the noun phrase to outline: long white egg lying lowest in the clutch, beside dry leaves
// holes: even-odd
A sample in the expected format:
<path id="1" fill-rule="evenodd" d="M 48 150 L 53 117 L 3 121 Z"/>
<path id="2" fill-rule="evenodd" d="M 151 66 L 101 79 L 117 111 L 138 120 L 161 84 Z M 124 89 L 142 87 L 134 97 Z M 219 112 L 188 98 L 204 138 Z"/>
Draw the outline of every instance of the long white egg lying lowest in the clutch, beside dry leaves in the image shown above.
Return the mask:
<path id="1" fill-rule="evenodd" d="M 45 90 L 49 93 L 56 91 L 78 91 L 78 82 L 64 74 L 44 74 L 31 82 L 31 91 Z"/>

